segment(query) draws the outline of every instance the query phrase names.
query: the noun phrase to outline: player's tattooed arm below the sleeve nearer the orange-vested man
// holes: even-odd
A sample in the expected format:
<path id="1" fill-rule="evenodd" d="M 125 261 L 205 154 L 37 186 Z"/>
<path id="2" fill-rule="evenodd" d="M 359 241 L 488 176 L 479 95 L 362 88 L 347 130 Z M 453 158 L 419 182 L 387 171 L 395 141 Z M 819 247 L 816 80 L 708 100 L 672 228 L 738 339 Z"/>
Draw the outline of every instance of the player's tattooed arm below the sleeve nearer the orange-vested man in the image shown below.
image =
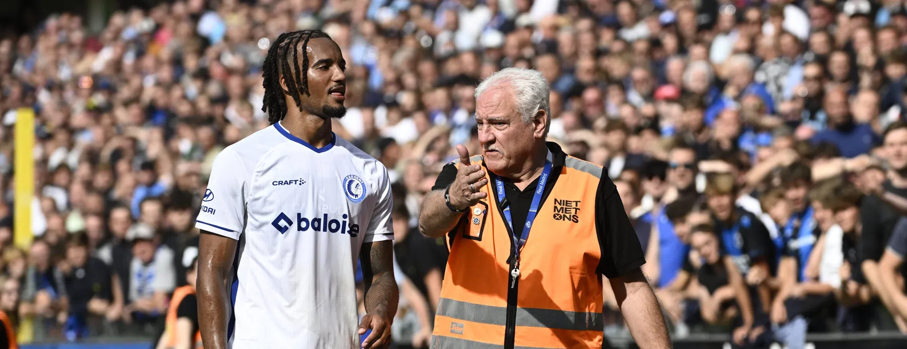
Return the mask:
<path id="1" fill-rule="evenodd" d="M 393 318 L 399 298 L 394 279 L 394 242 L 366 243 L 362 246 L 359 259 L 366 282 L 366 313 Z"/>

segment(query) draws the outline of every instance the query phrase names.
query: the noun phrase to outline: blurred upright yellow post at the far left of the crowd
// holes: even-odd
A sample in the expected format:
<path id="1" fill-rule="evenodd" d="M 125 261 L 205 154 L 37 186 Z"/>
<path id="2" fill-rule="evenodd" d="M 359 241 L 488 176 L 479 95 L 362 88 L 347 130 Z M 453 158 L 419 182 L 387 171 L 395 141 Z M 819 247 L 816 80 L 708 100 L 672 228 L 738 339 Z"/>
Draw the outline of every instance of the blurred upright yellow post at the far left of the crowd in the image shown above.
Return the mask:
<path id="1" fill-rule="evenodd" d="M 15 246 L 27 251 L 32 245 L 32 200 L 34 199 L 34 111 L 20 108 L 15 113 Z M 31 317 L 19 322 L 18 343 L 30 343 L 34 334 Z"/>

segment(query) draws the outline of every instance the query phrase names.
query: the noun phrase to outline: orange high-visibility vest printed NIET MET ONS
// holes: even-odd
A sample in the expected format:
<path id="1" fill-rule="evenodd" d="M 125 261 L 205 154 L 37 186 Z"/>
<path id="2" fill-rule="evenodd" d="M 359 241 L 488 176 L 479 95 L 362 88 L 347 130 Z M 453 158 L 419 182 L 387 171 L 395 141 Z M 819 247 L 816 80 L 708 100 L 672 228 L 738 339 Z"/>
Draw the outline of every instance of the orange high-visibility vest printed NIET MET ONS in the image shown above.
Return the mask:
<path id="1" fill-rule="evenodd" d="M 601 171 L 566 156 L 559 175 L 551 176 L 551 192 L 522 247 L 513 287 L 512 233 L 498 208 L 494 178 L 486 174 L 488 184 L 481 190 L 487 198 L 463 213 L 448 235 L 453 241 L 433 349 L 601 348 L 601 250 L 595 226 Z M 512 343 L 505 343 L 508 335 Z"/>

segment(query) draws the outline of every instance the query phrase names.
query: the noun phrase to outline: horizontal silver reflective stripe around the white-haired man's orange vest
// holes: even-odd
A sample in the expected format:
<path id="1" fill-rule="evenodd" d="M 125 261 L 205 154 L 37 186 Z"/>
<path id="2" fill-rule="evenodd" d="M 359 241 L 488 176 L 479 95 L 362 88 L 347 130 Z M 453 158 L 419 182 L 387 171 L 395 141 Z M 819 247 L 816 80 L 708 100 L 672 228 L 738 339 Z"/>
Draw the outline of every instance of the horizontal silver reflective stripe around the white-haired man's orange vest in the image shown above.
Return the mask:
<path id="1" fill-rule="evenodd" d="M 507 308 L 477 305 L 448 298 L 438 301 L 438 315 L 473 323 L 506 325 Z M 558 328 L 572 331 L 602 331 L 601 313 L 580 313 L 554 309 L 516 308 L 516 325 L 527 327 Z"/>

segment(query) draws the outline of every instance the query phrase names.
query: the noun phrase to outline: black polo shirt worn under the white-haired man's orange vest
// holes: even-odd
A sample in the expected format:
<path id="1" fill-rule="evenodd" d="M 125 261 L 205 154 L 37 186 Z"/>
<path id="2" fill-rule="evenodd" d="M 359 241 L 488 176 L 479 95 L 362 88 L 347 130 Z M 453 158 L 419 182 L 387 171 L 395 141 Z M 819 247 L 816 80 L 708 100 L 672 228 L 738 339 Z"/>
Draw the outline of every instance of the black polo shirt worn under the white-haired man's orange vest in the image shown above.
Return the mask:
<path id="1" fill-rule="evenodd" d="M 560 177 L 561 170 L 564 167 L 564 160 L 567 158 L 567 154 L 561 150 L 561 146 L 557 145 L 557 143 L 548 142 L 547 145 L 548 149 L 551 150 L 551 175 L 548 182 L 545 183 L 540 207 L 545 205 L 545 200 L 551 194 L 554 183 Z M 441 170 L 438 178 L 434 181 L 432 189 L 444 190 L 447 188 L 453 183 L 453 179 L 456 178 L 456 172 L 453 162 L 444 165 L 444 169 Z M 626 275 L 629 271 L 645 264 L 646 259 L 636 231 L 633 229 L 633 224 L 630 223 L 627 213 L 624 211 L 617 187 L 615 187 L 614 182 L 611 181 L 607 173 L 607 170 L 602 171 L 599 188 L 595 194 L 595 230 L 601 248 L 598 271 L 600 274 L 611 278 Z M 492 178 L 494 177 L 492 173 Z M 539 185 L 539 179 L 536 178 L 522 190 L 517 188 L 511 179 L 502 178 L 502 181 L 504 183 L 504 194 L 510 201 L 513 233 L 521 236 L 526 216 L 529 214 L 529 207 L 532 205 L 533 193 Z M 494 198 L 491 199 L 494 200 Z"/>

